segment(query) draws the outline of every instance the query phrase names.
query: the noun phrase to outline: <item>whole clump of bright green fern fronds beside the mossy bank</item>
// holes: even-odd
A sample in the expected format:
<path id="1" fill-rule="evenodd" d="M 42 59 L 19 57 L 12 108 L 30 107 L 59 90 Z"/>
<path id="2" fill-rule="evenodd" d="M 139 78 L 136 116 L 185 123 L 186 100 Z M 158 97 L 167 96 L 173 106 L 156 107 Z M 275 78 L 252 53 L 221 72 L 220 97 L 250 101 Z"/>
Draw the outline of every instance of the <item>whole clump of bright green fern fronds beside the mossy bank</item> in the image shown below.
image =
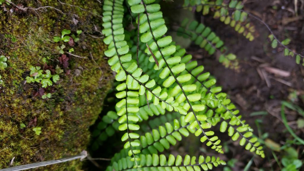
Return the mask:
<path id="1" fill-rule="evenodd" d="M 253 130 L 241 120 L 226 93 L 215 86 L 216 80 L 209 72 L 203 72 L 203 66 L 191 61 L 192 56 L 176 45 L 171 36 L 165 35 L 168 29 L 160 5 L 154 0 L 129 0 L 128 5 L 137 18 L 135 25 L 139 30 L 134 32 L 139 35 L 135 36 L 137 39 L 126 36 L 134 33 L 123 28 L 122 0 L 105 0 L 103 6 L 102 33 L 105 44 L 109 45 L 105 55 L 110 58 L 111 69 L 117 73 L 116 81 L 120 82 L 116 86 L 116 97 L 120 99 L 116 112 L 108 113 L 103 122 L 113 125 L 117 120 L 118 130 L 125 132 L 121 139 L 126 141 L 126 150 L 114 155 L 108 170 L 146 167 L 207 170 L 225 164 L 215 157 L 204 160 L 202 156 L 199 162 L 195 157 L 190 162 L 190 156 L 186 155 L 181 165 L 179 155 L 176 159 L 169 155 L 168 160 L 165 155 L 158 155 L 181 141 L 181 135 L 187 137 L 190 133 L 211 149 L 223 153 L 221 141 L 209 130 L 218 123 L 220 131 L 227 131 L 232 140 L 242 137 L 240 145 L 247 143 L 247 150 L 264 157 L 257 138 L 252 138 Z M 181 115 L 164 125 L 155 123 L 151 132 L 142 134 L 140 123 L 143 120 L 172 111 Z"/>

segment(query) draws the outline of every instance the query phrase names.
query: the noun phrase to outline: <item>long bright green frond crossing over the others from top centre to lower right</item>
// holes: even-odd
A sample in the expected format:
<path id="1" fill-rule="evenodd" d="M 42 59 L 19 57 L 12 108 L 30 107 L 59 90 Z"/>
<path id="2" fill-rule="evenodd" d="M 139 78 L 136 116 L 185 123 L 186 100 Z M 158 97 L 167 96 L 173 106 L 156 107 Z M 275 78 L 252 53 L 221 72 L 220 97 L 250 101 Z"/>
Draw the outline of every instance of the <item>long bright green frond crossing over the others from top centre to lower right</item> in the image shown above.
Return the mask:
<path id="1" fill-rule="evenodd" d="M 183 72 L 186 68 L 185 68 L 185 64 L 179 64 L 179 62 L 181 61 L 180 57 L 171 57 L 170 55 L 173 54 L 176 51 L 176 46 L 174 45 L 170 45 L 170 43 L 172 42 L 171 37 L 167 36 L 167 37 L 163 37 L 159 40 L 157 40 L 157 38 L 160 38 L 161 36 L 163 36 L 166 32 L 167 32 L 167 27 L 164 25 L 164 19 L 160 18 L 161 15 L 158 14 L 158 17 L 156 18 L 150 18 L 150 16 L 153 16 L 154 14 L 159 13 L 160 10 L 160 6 L 158 4 L 151 4 L 151 5 L 147 5 L 150 4 L 151 2 L 145 2 L 144 0 L 141 1 L 133 1 L 130 0 L 128 1 L 129 5 L 131 6 L 131 11 L 133 13 L 144 13 L 141 18 L 140 21 L 140 25 L 142 27 L 140 27 L 140 32 L 142 33 L 142 36 L 140 37 L 140 40 L 143 43 L 147 43 L 148 47 L 150 47 L 150 49 L 148 51 L 151 51 L 154 53 L 154 55 L 152 54 L 150 56 L 150 62 L 155 62 L 155 60 L 159 60 L 159 65 L 157 65 L 157 69 L 160 68 L 164 68 L 164 70 L 162 71 L 162 73 L 160 74 L 160 77 L 162 79 L 167 78 L 164 83 L 163 86 L 164 87 L 169 87 L 171 86 L 174 82 L 177 83 L 177 86 L 175 86 L 173 88 L 173 90 L 171 91 L 172 93 L 170 94 L 170 96 L 172 96 L 172 100 L 174 100 L 174 96 L 178 95 L 181 92 L 181 95 L 185 98 L 183 99 L 183 97 L 181 99 L 181 102 L 185 101 L 185 107 L 184 109 L 181 108 L 177 108 L 177 110 L 181 111 L 183 114 L 185 113 L 185 109 L 189 110 L 190 112 L 186 115 L 186 118 L 188 122 L 190 123 L 196 123 L 193 124 L 193 126 L 195 125 L 198 126 L 200 128 L 200 133 L 204 134 L 204 138 L 201 138 L 201 141 L 204 142 L 206 140 L 208 140 L 207 145 L 210 146 L 212 145 L 212 149 L 215 149 L 216 151 L 223 153 L 222 151 L 222 146 L 215 144 L 215 142 L 218 140 L 218 138 L 212 137 L 209 138 L 206 134 L 205 131 L 202 128 L 202 125 L 199 121 L 199 119 L 197 118 L 195 111 L 202 111 L 204 110 L 204 104 L 192 104 L 190 103 L 187 94 L 185 92 L 193 92 L 194 90 L 196 90 L 196 85 L 192 84 L 192 85 L 181 85 L 177 79 L 178 74 L 180 74 L 181 72 Z M 149 16 L 148 16 L 148 12 L 149 12 Z M 160 13 L 161 14 L 161 13 Z M 161 49 L 162 48 L 162 49 Z M 165 58 L 166 56 L 166 58 Z M 169 66 L 170 65 L 170 66 Z M 156 69 L 154 67 L 154 69 Z M 157 70 L 156 69 L 156 70 Z M 169 76 L 171 75 L 171 76 Z M 180 75 L 181 76 L 181 75 Z M 199 95 L 200 96 L 200 95 Z M 171 101 L 170 99 L 170 101 Z M 199 103 L 199 98 L 195 98 L 194 101 L 197 101 Z M 210 125 L 211 126 L 211 125 Z M 206 139 L 205 139 L 206 138 Z M 216 141 L 219 142 L 219 141 Z"/>

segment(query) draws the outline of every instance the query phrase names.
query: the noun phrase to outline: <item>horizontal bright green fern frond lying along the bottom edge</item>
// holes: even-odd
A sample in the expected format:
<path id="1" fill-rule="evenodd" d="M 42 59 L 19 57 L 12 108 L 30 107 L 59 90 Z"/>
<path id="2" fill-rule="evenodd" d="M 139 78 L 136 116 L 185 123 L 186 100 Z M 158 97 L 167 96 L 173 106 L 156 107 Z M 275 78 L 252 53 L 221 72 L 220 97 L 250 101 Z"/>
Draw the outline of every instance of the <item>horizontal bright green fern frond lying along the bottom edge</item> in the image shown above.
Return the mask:
<path id="1" fill-rule="evenodd" d="M 219 157 L 214 156 L 199 156 L 197 160 L 195 156 L 190 157 L 189 155 L 185 155 L 184 159 L 181 155 L 177 155 L 176 157 L 172 154 L 168 156 L 168 159 L 165 155 L 157 155 L 157 154 L 146 154 L 140 155 L 140 165 L 143 170 L 209 170 L 212 169 L 213 166 L 217 167 L 219 165 L 226 165 L 226 162 L 221 160 Z M 130 162 L 129 157 L 123 158 L 114 162 L 112 166 L 108 166 L 106 171 L 125 171 L 125 170 L 133 170 L 133 163 Z M 134 169 L 135 171 L 136 169 Z"/>

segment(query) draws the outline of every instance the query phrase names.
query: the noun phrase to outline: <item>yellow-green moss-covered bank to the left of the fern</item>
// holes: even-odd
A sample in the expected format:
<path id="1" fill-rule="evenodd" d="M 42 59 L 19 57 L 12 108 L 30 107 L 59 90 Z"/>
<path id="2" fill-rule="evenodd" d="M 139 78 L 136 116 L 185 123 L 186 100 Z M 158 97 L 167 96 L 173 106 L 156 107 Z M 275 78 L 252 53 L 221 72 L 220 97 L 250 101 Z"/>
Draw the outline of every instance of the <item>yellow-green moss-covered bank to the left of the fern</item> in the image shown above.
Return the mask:
<path id="1" fill-rule="evenodd" d="M 37 8 L 18 10 L 14 5 L 0 7 L 0 55 L 8 57 L 7 68 L 0 69 L 0 168 L 79 154 L 86 148 L 102 102 L 111 85 L 112 73 L 103 58 L 105 45 L 98 32 L 101 27 L 102 5 L 96 0 L 33 1 L 12 0 L 15 4 Z M 62 14 L 66 13 L 66 14 Z M 63 72 L 60 80 L 46 89 L 50 99 L 33 96 L 39 83 L 28 84 L 29 67 L 60 65 L 61 56 L 54 36 L 68 29 L 76 34 L 83 30 L 74 52 L 85 58 L 69 56 L 70 74 Z M 91 35 L 95 35 L 92 37 Z M 67 51 L 65 49 L 65 51 Z M 92 55 L 90 55 L 92 54 Z M 36 118 L 36 121 L 35 121 Z M 21 129 L 20 124 L 25 124 Z M 36 135 L 33 127 L 41 127 Z M 79 170 L 81 162 L 67 162 L 40 168 L 41 170 Z"/>

